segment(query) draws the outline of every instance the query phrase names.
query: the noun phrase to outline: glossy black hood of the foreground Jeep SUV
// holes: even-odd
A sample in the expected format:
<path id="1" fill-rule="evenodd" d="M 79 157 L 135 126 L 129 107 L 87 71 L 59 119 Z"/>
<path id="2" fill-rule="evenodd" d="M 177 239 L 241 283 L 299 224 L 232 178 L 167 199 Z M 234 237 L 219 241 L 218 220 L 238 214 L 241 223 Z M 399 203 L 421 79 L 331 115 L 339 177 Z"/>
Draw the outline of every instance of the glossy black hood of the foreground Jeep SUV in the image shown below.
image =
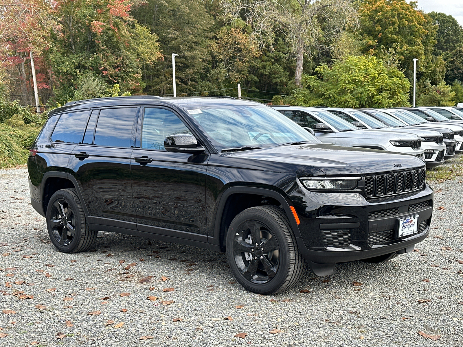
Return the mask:
<path id="1" fill-rule="evenodd" d="M 239 167 L 265 167 L 266 170 L 292 172 L 298 176 L 375 174 L 425 165 L 415 155 L 325 143 L 271 147 L 221 155 L 227 155 L 229 163 L 235 159 L 236 166 L 239 163 Z"/>

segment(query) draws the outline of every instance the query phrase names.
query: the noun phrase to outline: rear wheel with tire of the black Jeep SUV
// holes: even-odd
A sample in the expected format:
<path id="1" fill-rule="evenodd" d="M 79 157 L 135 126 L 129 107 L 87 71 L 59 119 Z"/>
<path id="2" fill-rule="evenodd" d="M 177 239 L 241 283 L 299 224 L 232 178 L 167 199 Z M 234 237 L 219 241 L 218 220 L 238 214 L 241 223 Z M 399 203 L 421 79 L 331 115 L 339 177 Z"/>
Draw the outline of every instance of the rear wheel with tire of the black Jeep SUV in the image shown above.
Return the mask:
<path id="1" fill-rule="evenodd" d="M 88 229 L 75 189 L 55 192 L 50 198 L 46 216 L 48 235 L 60 252 L 83 252 L 93 246 L 98 231 Z"/>

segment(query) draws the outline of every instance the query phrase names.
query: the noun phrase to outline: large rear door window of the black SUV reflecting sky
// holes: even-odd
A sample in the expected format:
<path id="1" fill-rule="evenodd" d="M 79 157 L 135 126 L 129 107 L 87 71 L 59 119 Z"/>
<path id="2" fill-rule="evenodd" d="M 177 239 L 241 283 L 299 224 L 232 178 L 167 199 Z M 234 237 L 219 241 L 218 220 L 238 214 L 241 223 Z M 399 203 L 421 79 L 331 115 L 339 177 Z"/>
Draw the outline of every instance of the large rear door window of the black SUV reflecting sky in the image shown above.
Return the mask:
<path id="1" fill-rule="evenodd" d="M 130 147 L 136 108 L 114 108 L 100 111 L 95 131 L 95 145 Z"/>

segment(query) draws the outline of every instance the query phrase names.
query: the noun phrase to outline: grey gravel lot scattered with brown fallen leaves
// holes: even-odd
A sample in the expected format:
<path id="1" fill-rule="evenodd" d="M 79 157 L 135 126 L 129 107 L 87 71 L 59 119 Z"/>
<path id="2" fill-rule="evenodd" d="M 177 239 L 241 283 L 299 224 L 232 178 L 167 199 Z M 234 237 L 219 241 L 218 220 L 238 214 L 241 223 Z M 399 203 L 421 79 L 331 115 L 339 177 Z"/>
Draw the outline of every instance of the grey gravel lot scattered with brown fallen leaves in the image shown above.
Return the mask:
<path id="1" fill-rule="evenodd" d="M 205 249 L 101 232 L 94 250 L 59 253 L 27 170 L 0 170 L 0 345 L 463 346 L 463 179 L 432 186 L 414 252 L 267 297 Z"/>

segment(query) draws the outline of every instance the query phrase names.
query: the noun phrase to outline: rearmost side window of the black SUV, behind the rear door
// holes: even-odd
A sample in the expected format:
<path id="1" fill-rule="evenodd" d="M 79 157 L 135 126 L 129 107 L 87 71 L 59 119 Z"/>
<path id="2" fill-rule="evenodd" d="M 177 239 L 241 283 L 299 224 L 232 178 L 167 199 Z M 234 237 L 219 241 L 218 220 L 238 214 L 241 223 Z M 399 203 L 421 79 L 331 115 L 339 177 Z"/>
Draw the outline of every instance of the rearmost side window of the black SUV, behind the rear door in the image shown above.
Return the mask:
<path id="1" fill-rule="evenodd" d="M 87 119 L 88 111 L 62 114 L 53 130 L 51 141 L 81 143 Z"/>

